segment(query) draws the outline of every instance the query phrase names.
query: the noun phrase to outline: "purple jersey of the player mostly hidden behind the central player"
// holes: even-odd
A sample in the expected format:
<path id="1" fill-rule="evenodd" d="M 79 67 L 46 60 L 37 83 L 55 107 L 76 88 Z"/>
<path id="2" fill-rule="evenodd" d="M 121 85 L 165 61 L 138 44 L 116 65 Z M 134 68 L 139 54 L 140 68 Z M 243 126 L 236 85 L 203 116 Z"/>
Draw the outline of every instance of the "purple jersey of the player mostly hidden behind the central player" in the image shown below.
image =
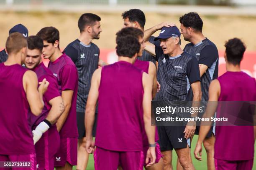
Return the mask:
<path id="1" fill-rule="evenodd" d="M 136 60 L 133 64 L 135 67 L 138 67 L 139 69 L 143 70 L 148 74 L 148 69 L 149 69 L 149 61 L 141 61 L 141 60 Z M 144 121 L 142 120 L 143 125 Z M 156 135 L 155 135 L 155 141 L 159 140 L 158 132 L 157 132 L 157 127 L 156 127 Z M 143 146 L 148 145 L 148 137 L 146 134 L 145 129 L 143 130 Z"/>

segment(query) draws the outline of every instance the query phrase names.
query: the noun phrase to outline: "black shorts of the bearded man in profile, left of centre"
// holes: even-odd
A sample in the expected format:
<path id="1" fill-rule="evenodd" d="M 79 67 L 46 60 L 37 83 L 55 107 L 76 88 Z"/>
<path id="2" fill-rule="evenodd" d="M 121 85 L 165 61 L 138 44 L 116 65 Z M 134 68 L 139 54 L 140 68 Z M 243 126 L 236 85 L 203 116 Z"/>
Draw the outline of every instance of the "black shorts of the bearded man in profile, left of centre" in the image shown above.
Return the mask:
<path id="1" fill-rule="evenodd" d="M 97 126 L 97 113 L 95 113 L 95 121 L 92 129 L 92 136 L 95 137 L 96 126 Z M 77 112 L 77 129 L 78 129 L 78 139 L 85 137 L 85 125 L 84 125 L 85 112 Z"/>

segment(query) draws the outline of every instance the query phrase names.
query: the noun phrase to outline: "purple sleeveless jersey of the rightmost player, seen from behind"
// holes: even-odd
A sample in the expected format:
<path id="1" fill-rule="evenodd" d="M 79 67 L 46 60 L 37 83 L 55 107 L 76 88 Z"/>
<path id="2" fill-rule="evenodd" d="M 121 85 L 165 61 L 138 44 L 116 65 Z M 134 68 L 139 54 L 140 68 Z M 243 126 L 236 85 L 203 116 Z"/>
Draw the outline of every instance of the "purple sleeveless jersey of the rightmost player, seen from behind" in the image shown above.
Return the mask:
<path id="1" fill-rule="evenodd" d="M 255 101 L 256 82 L 244 72 L 226 72 L 218 77 L 219 101 Z M 217 109 L 217 117 L 218 110 Z M 214 158 L 251 160 L 254 156 L 253 126 L 216 126 Z"/>

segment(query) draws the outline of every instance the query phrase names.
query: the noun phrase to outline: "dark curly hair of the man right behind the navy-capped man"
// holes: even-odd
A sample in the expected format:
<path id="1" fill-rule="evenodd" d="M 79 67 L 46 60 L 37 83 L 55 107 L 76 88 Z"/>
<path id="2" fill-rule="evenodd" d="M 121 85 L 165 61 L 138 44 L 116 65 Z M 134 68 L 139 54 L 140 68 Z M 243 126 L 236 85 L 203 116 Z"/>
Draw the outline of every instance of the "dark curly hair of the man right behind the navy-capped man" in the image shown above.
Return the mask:
<path id="1" fill-rule="evenodd" d="M 202 32 L 203 22 L 198 13 L 191 12 L 183 15 L 179 18 L 179 23 L 183 24 L 184 27 L 190 27 Z"/>

